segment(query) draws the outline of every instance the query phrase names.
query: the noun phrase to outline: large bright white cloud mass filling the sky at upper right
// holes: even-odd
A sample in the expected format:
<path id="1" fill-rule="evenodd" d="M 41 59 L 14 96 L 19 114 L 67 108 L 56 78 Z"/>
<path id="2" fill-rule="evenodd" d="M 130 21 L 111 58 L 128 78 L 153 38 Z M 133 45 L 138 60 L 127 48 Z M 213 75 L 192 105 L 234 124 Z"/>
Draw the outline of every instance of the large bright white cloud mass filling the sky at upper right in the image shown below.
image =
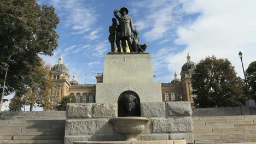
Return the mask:
<path id="1" fill-rule="evenodd" d="M 243 77 L 238 52 L 243 52 L 245 69 L 256 55 L 256 1 L 183 1 L 187 14 L 200 13 L 194 22 L 177 29 L 176 44 L 185 44 L 183 52 L 168 58 L 168 68 L 180 68 L 187 52 L 199 62 L 206 56 L 228 58 Z"/>

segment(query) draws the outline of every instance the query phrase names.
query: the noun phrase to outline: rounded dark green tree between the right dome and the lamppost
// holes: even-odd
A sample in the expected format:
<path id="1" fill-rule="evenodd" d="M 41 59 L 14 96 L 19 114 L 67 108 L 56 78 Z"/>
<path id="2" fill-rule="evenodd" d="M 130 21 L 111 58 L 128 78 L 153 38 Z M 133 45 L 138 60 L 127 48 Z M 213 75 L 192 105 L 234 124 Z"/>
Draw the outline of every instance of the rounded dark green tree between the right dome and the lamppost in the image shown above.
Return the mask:
<path id="1" fill-rule="evenodd" d="M 192 76 L 195 106 L 231 106 L 227 99 L 244 103 L 243 81 L 236 76 L 234 67 L 228 59 L 206 57 L 202 59 Z"/>

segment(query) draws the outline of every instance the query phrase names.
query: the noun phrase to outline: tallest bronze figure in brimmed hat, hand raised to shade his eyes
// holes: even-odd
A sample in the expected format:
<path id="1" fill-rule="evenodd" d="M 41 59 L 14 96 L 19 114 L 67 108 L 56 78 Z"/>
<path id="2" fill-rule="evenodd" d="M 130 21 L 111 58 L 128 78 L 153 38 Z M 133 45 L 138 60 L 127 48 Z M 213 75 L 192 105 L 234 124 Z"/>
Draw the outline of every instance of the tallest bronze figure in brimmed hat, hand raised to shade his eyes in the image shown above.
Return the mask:
<path id="1" fill-rule="evenodd" d="M 119 15 L 118 12 L 121 15 Z M 127 40 L 127 44 L 130 48 L 130 52 L 137 52 L 137 49 L 133 50 L 133 48 L 132 48 L 132 32 L 134 31 L 134 29 L 133 29 L 133 24 L 132 24 L 132 18 L 131 18 L 131 16 L 127 16 L 128 13 L 129 13 L 129 11 L 125 7 L 121 7 L 114 11 L 114 15 L 115 15 L 115 17 L 117 17 L 117 19 L 119 21 L 119 26 L 120 26 L 119 37 L 120 37 L 121 45 L 123 47 L 124 52 L 126 52 L 125 40 Z"/>

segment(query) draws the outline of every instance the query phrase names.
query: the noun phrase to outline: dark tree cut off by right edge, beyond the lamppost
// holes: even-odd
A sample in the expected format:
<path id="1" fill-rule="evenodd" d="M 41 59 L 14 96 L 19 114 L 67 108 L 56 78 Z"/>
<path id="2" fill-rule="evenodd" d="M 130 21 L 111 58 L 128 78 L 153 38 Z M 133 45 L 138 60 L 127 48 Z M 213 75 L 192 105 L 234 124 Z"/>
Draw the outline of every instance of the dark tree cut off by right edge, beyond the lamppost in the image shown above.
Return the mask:
<path id="1" fill-rule="evenodd" d="M 250 63 L 246 69 L 246 82 L 251 98 L 256 100 L 256 61 Z"/>

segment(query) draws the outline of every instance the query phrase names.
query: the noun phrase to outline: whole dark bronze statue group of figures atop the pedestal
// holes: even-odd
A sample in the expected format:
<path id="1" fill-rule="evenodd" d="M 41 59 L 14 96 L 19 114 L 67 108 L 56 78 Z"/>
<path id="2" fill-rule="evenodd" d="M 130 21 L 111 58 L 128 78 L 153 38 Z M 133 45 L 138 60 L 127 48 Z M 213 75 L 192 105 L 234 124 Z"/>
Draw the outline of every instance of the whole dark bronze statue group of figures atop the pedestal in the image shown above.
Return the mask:
<path id="1" fill-rule="evenodd" d="M 119 15 L 120 13 L 121 15 Z M 130 52 L 145 52 L 147 49 L 147 44 L 139 44 L 138 31 L 133 28 L 131 16 L 127 16 L 129 13 L 128 9 L 121 7 L 114 11 L 114 16 L 118 19 L 112 18 L 112 26 L 109 27 L 109 37 L 108 40 L 111 43 L 111 52 L 115 52 L 115 44 L 117 45 L 118 52 L 121 52 L 121 47 L 123 47 L 123 52 L 126 51 L 126 41 L 129 46 Z M 121 46 L 120 46 L 121 40 Z"/>

